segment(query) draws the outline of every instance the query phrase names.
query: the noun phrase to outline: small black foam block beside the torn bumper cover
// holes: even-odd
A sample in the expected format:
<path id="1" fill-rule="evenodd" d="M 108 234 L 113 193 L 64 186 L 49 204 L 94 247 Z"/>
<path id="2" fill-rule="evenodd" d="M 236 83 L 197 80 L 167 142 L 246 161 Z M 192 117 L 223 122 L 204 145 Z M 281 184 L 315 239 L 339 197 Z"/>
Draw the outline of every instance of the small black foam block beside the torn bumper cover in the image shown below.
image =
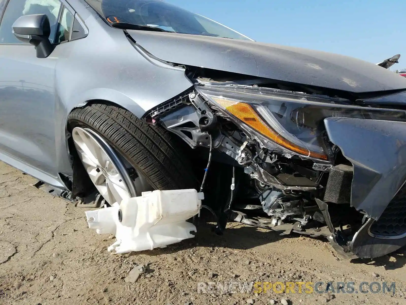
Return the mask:
<path id="1" fill-rule="evenodd" d="M 339 164 L 332 167 L 328 175 L 324 202 L 350 203 L 352 176 L 352 166 Z"/>

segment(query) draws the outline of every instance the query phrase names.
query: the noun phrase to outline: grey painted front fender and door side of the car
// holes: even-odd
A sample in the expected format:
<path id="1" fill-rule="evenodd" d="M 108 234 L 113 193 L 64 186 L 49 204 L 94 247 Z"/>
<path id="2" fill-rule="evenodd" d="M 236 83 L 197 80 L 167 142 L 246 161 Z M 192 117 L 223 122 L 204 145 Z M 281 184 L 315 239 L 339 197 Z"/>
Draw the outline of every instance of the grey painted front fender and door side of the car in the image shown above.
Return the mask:
<path id="1" fill-rule="evenodd" d="M 89 28 L 87 37 L 56 46 L 44 59 L 34 46 L 0 45 L 0 159 L 56 187 L 64 187 L 58 173 L 72 174 L 72 109 L 108 100 L 141 117 L 192 86 L 184 70 L 149 59 L 87 4 L 69 4 Z"/>

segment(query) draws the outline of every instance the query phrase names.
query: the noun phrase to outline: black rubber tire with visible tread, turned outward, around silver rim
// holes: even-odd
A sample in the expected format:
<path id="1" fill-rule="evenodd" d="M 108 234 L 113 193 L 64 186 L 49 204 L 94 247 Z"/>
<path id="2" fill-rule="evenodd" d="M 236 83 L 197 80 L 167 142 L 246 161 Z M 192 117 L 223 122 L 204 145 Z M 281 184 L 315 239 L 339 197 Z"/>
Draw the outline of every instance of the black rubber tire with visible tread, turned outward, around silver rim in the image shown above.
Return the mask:
<path id="1" fill-rule="evenodd" d="M 71 131 L 81 127 L 100 135 L 156 190 L 197 186 L 179 139 L 161 126 L 148 125 L 126 109 L 100 102 L 74 109 L 68 123 Z"/>

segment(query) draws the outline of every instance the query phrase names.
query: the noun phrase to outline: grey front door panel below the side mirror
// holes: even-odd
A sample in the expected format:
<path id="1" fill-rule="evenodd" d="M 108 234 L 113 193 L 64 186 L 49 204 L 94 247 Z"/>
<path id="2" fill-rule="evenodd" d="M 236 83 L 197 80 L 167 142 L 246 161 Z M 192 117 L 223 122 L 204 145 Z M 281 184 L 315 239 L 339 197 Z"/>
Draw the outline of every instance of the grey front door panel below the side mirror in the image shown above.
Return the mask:
<path id="1" fill-rule="evenodd" d="M 0 152 L 57 180 L 55 66 L 54 58 L 37 58 L 33 46 L 0 46 Z"/>

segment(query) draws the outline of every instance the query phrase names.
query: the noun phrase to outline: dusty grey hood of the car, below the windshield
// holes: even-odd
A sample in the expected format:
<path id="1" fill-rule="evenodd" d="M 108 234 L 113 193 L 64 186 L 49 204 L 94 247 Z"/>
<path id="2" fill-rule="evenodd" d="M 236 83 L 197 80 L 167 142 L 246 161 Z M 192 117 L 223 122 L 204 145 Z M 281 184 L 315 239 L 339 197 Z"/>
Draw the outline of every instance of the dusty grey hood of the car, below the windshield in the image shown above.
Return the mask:
<path id="1" fill-rule="evenodd" d="M 227 38 L 128 30 L 164 61 L 354 93 L 406 88 L 378 65 L 320 51 Z"/>

